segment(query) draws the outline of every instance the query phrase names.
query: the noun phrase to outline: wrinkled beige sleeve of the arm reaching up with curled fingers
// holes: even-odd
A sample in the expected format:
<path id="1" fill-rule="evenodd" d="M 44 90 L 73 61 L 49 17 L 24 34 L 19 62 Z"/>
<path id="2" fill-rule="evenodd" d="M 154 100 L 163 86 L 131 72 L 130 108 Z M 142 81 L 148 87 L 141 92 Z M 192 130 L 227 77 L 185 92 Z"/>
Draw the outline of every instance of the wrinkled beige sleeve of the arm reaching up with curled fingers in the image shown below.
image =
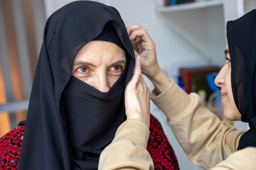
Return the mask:
<path id="1" fill-rule="evenodd" d="M 174 81 L 158 96 L 153 91 L 151 100 L 166 115 L 189 159 L 205 169 L 213 168 L 235 152 L 245 132 L 220 121 L 203 107 L 197 94 L 186 94 Z"/>

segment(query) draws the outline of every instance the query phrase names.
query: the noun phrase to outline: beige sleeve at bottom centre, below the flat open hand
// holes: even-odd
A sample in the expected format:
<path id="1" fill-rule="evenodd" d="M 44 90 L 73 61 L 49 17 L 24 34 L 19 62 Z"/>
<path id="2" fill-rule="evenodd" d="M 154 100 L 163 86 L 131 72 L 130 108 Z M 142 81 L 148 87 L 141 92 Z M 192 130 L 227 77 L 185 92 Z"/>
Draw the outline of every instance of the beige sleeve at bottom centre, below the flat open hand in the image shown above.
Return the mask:
<path id="1" fill-rule="evenodd" d="M 147 142 L 149 128 L 139 120 L 126 120 L 114 140 L 100 154 L 98 169 L 154 169 Z"/>

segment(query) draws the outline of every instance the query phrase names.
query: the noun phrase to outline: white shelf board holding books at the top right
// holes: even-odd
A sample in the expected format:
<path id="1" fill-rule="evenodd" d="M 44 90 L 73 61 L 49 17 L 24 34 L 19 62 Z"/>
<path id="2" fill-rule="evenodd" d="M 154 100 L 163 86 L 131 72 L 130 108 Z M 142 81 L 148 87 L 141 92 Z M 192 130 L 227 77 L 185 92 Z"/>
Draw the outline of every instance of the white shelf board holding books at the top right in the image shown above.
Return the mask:
<path id="1" fill-rule="evenodd" d="M 187 4 L 178 4 L 174 6 L 161 6 L 159 11 L 161 13 L 169 13 L 175 11 L 186 11 L 198 8 L 208 8 L 211 6 L 223 5 L 223 0 L 208 0 L 208 1 L 196 1 Z"/>

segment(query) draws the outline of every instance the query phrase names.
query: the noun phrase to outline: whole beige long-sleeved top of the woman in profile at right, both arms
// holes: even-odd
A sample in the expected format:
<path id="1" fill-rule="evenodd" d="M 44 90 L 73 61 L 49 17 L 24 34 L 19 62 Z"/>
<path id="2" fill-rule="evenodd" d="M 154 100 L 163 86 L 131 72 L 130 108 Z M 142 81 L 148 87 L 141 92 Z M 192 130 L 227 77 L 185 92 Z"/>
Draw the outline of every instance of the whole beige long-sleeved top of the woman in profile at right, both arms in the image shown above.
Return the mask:
<path id="1" fill-rule="evenodd" d="M 172 82 L 158 96 L 153 91 L 151 100 L 166 115 L 174 135 L 194 164 L 204 169 L 255 169 L 256 148 L 236 152 L 245 131 L 220 121 L 203 107 L 197 94 L 188 95 Z M 99 169 L 154 169 L 146 151 L 148 138 L 149 129 L 144 123 L 127 120 L 102 152 Z"/>

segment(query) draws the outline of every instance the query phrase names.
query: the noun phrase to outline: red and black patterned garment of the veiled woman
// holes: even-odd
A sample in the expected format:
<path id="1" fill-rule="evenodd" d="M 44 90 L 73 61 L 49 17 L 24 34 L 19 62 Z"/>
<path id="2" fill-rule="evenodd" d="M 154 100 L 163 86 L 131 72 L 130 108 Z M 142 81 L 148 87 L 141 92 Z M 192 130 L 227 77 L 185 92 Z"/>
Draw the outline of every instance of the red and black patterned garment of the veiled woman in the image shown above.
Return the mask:
<path id="1" fill-rule="evenodd" d="M 19 126 L 0 138 L 0 170 L 18 169 L 25 125 Z M 147 150 L 155 169 L 178 170 L 178 161 L 161 125 L 153 115 L 150 117 L 150 135 Z"/>

